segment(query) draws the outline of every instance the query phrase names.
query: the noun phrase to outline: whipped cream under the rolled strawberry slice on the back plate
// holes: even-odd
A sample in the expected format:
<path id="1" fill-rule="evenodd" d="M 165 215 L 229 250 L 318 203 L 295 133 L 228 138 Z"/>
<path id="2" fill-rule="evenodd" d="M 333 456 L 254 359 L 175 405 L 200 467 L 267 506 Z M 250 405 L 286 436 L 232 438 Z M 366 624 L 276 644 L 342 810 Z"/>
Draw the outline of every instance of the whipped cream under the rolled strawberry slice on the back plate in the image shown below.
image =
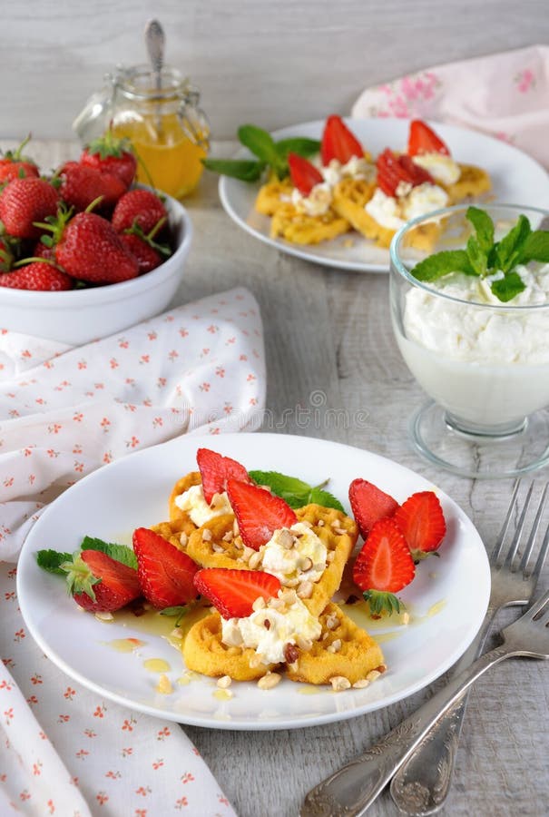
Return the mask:
<path id="1" fill-rule="evenodd" d="M 433 210 L 440 210 L 448 203 L 448 194 L 437 184 L 418 184 L 410 189 L 409 184 L 398 186 L 397 196 L 387 196 L 377 188 L 364 209 L 373 219 L 387 227 L 388 230 L 399 230 L 410 219 L 426 215 Z"/>

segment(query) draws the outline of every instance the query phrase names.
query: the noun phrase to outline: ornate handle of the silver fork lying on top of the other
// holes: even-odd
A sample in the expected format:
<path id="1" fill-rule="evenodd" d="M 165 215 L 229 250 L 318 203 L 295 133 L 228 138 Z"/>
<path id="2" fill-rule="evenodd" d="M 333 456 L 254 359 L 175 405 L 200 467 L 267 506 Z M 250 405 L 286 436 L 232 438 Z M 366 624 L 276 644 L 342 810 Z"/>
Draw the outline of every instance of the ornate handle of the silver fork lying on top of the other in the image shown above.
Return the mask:
<path id="1" fill-rule="evenodd" d="M 358 817 L 366 812 L 438 718 L 446 714 L 487 669 L 512 655 L 520 654 L 502 645 L 478 658 L 379 743 L 311 789 L 300 817 Z"/>

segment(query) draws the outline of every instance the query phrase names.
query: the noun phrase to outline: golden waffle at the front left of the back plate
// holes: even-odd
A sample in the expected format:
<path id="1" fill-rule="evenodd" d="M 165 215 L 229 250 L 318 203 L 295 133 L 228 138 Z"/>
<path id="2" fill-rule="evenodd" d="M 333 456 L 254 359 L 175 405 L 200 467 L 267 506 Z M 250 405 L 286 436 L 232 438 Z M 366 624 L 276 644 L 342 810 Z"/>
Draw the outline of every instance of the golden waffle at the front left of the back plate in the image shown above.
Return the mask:
<path id="1" fill-rule="evenodd" d="M 331 208 L 323 215 L 311 216 L 299 212 L 290 202 L 281 204 L 270 222 L 270 237 L 282 238 L 293 244 L 319 244 L 330 241 L 350 230 L 347 219 Z"/>

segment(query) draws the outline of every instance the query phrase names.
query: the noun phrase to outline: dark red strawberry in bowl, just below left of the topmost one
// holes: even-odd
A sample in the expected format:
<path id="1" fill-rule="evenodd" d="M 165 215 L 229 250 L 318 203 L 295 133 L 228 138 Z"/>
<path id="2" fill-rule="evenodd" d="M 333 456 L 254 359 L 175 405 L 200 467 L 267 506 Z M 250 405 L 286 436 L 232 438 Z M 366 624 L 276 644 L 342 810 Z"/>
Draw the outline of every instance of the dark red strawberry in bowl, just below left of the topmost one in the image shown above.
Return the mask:
<path id="1" fill-rule="evenodd" d="M 126 191 L 118 176 L 102 173 L 79 162 L 65 162 L 58 176 L 61 180 L 61 198 L 77 212 L 85 210 L 96 199 L 101 199 L 97 204 L 98 210 L 110 212 Z"/>

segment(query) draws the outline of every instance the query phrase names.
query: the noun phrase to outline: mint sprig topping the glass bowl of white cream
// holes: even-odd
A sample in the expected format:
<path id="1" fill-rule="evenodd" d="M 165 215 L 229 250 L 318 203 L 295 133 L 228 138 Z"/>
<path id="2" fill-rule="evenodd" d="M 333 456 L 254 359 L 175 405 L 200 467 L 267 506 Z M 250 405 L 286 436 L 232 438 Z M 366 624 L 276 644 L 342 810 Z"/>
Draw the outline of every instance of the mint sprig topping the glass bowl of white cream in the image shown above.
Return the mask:
<path id="1" fill-rule="evenodd" d="M 494 222 L 478 207 L 467 208 L 466 218 L 475 228 L 465 250 L 436 252 L 420 261 L 411 274 L 417 281 L 437 281 L 451 272 L 486 278 L 502 272 L 490 284 L 498 300 L 506 303 L 525 289 L 515 268 L 529 261 L 549 261 L 549 231 L 532 231 L 530 221 L 520 215 L 514 227 L 494 241 Z"/>

